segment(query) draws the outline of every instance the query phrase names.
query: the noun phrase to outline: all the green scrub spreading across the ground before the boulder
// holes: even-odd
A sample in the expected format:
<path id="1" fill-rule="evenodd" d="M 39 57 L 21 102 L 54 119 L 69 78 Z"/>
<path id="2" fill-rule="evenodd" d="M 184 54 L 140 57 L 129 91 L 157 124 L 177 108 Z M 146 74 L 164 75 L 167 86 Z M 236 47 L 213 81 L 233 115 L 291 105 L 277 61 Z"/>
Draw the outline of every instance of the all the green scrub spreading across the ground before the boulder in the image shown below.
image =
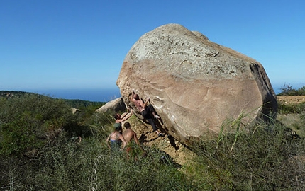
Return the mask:
<path id="1" fill-rule="evenodd" d="M 299 131 L 305 127 L 299 105 Z M 282 122 L 223 124 L 179 166 L 157 148 L 109 153 L 113 119 L 39 95 L 0 98 L 0 190 L 304 190 L 305 141 Z M 83 113 L 83 114 L 82 114 Z M 86 113 L 84 115 L 84 113 Z M 82 142 L 79 143 L 78 136 Z"/>

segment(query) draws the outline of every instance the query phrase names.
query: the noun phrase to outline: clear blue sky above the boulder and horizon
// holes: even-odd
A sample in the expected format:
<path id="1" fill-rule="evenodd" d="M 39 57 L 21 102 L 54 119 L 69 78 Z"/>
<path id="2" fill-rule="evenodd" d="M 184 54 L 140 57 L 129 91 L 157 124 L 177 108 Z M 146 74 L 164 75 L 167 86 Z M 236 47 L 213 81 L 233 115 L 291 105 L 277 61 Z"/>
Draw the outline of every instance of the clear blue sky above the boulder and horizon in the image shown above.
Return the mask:
<path id="1" fill-rule="evenodd" d="M 274 88 L 305 86 L 304 10 L 304 0 L 0 0 L 0 90 L 117 88 L 131 46 L 167 23 L 256 59 Z"/>

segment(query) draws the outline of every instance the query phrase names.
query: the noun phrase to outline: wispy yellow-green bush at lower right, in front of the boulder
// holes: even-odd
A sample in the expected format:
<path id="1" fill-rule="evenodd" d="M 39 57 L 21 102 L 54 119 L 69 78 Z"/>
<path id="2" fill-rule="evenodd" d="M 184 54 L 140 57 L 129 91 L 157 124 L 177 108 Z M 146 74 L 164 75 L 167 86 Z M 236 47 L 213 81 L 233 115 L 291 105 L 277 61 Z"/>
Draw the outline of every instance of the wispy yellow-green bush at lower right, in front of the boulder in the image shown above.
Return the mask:
<path id="1" fill-rule="evenodd" d="M 198 157 L 190 177 L 211 190 L 304 190 L 304 139 L 282 125 L 255 125 L 247 131 L 194 144 Z M 232 149 L 233 148 L 233 149 Z"/>

